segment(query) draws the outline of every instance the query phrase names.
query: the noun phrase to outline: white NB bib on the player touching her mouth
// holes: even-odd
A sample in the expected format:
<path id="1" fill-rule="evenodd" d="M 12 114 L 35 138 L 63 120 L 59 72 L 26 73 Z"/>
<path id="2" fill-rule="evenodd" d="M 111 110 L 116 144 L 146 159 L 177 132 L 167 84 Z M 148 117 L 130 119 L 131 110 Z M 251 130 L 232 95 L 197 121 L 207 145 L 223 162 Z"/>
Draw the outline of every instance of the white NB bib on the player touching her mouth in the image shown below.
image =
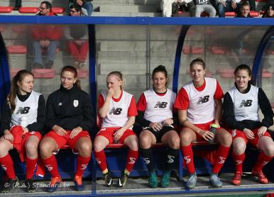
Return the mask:
<path id="1" fill-rule="evenodd" d="M 104 101 L 106 101 L 106 93 L 102 93 L 102 96 Z M 102 119 L 102 128 L 124 127 L 128 121 L 128 108 L 131 104 L 131 99 L 132 94 L 126 91 L 123 91 L 120 101 L 116 102 L 110 99 L 109 111 L 106 117 Z"/>

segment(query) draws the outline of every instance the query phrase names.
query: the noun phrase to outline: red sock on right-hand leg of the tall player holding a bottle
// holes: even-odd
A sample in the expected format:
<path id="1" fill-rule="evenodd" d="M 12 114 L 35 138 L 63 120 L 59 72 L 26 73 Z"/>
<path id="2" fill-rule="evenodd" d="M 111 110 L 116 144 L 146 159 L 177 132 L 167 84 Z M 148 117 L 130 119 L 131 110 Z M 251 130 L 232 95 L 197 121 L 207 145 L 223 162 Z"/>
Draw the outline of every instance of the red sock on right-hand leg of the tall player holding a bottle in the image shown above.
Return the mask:
<path id="1" fill-rule="evenodd" d="M 219 145 L 219 148 L 216 152 L 215 156 L 215 162 L 212 167 L 212 173 L 218 174 L 221 170 L 221 167 L 223 167 L 224 162 L 226 161 L 227 155 L 229 155 L 229 149 L 230 147 L 224 147 L 222 145 Z"/>

